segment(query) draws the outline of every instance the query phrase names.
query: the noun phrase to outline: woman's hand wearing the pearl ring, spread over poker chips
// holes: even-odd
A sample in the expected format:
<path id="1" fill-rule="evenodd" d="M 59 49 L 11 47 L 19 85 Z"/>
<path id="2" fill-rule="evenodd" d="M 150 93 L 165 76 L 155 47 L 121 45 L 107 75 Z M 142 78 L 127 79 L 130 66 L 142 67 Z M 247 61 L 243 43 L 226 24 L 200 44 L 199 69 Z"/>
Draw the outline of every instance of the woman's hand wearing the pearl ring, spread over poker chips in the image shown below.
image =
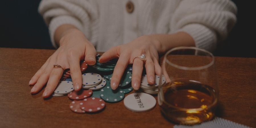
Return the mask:
<path id="1" fill-rule="evenodd" d="M 100 58 L 100 63 L 105 63 L 111 59 L 119 58 L 115 66 L 112 79 L 111 88 L 115 90 L 120 79 L 128 64 L 133 64 L 132 73 L 132 87 L 138 90 L 141 84 L 141 76 L 143 71 L 143 65 L 146 68 L 146 74 L 149 84 L 155 83 L 155 74 L 159 75 L 161 67 L 158 63 L 158 53 L 161 48 L 161 43 L 152 36 L 141 36 L 128 44 L 115 46 L 106 51 Z M 142 54 L 146 55 L 144 63 L 141 59 L 136 58 Z M 134 60 L 134 61 L 133 61 Z"/>

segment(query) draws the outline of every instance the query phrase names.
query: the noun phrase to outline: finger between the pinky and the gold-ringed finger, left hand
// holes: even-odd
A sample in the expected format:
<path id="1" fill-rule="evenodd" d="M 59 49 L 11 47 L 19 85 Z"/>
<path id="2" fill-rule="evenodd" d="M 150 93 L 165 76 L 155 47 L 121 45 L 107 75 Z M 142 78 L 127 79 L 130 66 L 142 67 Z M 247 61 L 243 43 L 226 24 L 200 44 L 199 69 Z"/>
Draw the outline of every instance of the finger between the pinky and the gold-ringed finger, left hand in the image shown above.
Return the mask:
<path id="1" fill-rule="evenodd" d="M 33 88 L 30 90 L 31 94 L 35 94 L 39 92 L 42 87 L 47 83 L 49 76 L 51 74 L 51 70 L 53 69 L 53 62 L 49 62 L 42 74 L 40 75 L 39 79 L 37 80 L 36 84 L 33 86 Z"/>

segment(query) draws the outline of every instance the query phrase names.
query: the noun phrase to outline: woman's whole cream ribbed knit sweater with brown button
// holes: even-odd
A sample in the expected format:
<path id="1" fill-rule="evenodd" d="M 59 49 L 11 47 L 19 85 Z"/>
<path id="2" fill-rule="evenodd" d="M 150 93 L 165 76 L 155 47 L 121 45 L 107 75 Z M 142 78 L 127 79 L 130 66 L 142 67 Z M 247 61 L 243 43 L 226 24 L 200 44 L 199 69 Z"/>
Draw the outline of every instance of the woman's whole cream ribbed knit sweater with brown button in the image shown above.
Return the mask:
<path id="1" fill-rule="evenodd" d="M 148 34 L 186 32 L 198 48 L 213 51 L 236 23 L 236 5 L 230 0 L 42 0 L 39 12 L 49 26 L 52 44 L 62 24 L 79 28 L 97 51 L 128 43 Z M 130 33 L 130 34 L 129 34 Z M 170 42 L 172 43 L 172 42 Z"/>

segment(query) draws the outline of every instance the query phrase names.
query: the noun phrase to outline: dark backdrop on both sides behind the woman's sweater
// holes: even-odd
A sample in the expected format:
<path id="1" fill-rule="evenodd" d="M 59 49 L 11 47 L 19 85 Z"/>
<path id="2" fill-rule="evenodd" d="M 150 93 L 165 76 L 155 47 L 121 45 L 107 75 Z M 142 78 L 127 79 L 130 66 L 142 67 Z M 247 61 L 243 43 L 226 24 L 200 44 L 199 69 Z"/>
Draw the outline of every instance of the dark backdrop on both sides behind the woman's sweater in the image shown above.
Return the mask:
<path id="1" fill-rule="evenodd" d="M 238 7 L 237 24 L 214 55 L 256 57 L 252 1 L 233 0 Z M 251 2 L 251 3 L 248 3 Z M 40 0 L 0 2 L 0 47 L 54 49 L 43 18 L 38 13 Z"/>

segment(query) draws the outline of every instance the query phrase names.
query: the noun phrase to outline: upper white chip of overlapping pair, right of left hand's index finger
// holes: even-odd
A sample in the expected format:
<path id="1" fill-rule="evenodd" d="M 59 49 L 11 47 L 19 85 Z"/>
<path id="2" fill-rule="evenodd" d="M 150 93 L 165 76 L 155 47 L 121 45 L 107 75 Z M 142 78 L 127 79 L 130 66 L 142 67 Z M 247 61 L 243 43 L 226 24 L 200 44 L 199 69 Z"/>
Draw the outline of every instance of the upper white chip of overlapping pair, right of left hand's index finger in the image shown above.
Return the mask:
<path id="1" fill-rule="evenodd" d="M 85 73 L 82 75 L 83 85 L 91 86 L 91 85 L 98 85 L 102 77 L 97 73 Z"/>

